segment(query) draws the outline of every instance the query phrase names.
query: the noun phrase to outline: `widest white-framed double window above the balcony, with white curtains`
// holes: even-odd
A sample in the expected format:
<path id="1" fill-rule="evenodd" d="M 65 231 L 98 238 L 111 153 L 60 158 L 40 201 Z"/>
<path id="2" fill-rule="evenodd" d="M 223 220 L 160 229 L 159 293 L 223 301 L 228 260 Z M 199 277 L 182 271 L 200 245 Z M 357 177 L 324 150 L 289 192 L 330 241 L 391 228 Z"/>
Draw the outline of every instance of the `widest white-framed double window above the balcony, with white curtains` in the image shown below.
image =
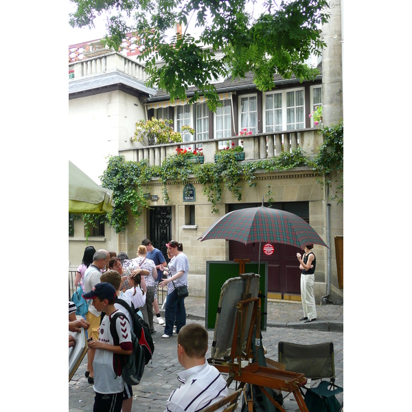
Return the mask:
<path id="1" fill-rule="evenodd" d="M 264 130 L 278 132 L 305 127 L 304 89 L 264 94 Z"/>

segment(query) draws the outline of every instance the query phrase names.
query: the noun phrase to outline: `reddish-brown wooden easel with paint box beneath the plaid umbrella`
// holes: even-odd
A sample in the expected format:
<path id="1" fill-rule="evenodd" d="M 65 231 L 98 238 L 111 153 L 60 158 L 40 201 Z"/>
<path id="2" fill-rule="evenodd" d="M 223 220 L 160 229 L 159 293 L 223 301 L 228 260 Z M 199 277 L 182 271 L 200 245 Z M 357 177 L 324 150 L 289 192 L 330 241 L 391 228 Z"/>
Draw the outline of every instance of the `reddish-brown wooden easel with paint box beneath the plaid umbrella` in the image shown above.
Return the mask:
<path id="1" fill-rule="evenodd" d="M 243 294 L 242 300 L 238 302 L 235 330 L 233 332 L 233 341 L 231 345 L 231 354 L 229 361 L 216 359 L 208 359 L 211 365 L 214 365 L 221 373 L 229 374 L 227 385 L 229 386 L 233 380 L 240 382 L 240 387 L 245 384 L 255 385 L 264 393 L 277 409 L 286 412 L 285 409 L 275 401 L 266 388 L 275 389 L 278 391 L 291 392 L 295 396 L 295 400 L 301 412 L 309 412 L 299 388 L 307 382 L 304 374 L 296 372 L 282 371 L 270 367 L 262 367 L 258 362 L 250 363 L 253 360 L 253 350 L 251 350 L 253 329 L 256 327 L 255 346 L 260 346 L 260 298 L 251 297 L 249 293 L 251 279 L 247 279 L 247 292 Z M 244 352 L 242 351 L 242 341 L 246 328 L 247 312 L 253 304 L 251 323 L 247 335 L 247 343 Z M 257 352 L 257 351 L 256 351 Z M 242 361 L 247 361 L 247 365 L 242 367 Z M 251 405 L 249 405 L 251 406 Z M 251 410 L 249 408 L 249 410 Z"/>

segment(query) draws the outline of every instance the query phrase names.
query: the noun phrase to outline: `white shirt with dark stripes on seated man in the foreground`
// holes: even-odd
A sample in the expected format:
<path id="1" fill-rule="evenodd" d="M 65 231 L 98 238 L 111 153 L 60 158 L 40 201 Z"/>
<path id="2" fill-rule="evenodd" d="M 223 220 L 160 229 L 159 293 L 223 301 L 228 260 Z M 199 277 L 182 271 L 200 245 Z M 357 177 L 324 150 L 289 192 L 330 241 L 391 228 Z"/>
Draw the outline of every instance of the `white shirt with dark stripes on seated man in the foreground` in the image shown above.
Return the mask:
<path id="1" fill-rule="evenodd" d="M 177 376 L 182 385 L 170 394 L 167 412 L 196 412 L 227 396 L 225 379 L 216 367 L 205 361 L 204 365 L 191 367 Z M 217 410 L 222 411 L 225 407 Z"/>

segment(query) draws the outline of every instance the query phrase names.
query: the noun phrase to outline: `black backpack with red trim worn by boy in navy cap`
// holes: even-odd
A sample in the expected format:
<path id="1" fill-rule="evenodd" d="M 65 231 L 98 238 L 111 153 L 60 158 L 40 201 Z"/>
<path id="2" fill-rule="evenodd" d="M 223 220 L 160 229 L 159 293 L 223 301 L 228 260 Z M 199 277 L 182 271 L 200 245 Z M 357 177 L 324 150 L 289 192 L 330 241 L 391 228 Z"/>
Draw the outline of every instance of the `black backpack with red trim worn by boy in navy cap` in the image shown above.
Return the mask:
<path id="1" fill-rule="evenodd" d="M 110 332 L 113 336 L 113 343 L 119 345 L 119 335 L 116 330 L 116 319 L 124 317 L 125 322 L 128 322 L 126 315 L 123 312 L 117 311 L 113 314 L 110 321 Z M 128 385 L 139 385 L 144 372 L 145 358 L 144 350 L 134 332 L 130 332 L 132 337 L 133 352 L 130 355 L 113 354 L 113 367 L 117 376 L 122 376 L 124 382 Z"/>

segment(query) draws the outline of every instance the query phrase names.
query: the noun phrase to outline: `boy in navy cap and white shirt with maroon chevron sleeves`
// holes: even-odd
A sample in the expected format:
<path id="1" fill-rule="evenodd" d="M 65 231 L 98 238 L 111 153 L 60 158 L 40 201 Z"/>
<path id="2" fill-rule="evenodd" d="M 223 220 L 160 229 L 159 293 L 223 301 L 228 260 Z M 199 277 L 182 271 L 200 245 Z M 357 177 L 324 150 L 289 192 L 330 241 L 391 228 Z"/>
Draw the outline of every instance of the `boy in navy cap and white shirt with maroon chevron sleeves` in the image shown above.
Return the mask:
<path id="1" fill-rule="evenodd" d="M 93 299 L 93 306 L 106 316 L 99 329 L 99 339 L 89 341 L 89 348 L 95 350 L 93 389 L 96 393 L 94 412 L 120 412 L 122 410 L 124 380 L 117 362 L 117 355 L 130 355 L 133 352 L 131 333 L 124 313 L 115 308 L 116 290 L 107 282 L 96 284 L 84 299 Z M 115 316 L 116 315 L 116 316 Z M 111 328 L 113 318 L 114 329 Z M 111 330 L 118 336 L 116 344 Z"/>

